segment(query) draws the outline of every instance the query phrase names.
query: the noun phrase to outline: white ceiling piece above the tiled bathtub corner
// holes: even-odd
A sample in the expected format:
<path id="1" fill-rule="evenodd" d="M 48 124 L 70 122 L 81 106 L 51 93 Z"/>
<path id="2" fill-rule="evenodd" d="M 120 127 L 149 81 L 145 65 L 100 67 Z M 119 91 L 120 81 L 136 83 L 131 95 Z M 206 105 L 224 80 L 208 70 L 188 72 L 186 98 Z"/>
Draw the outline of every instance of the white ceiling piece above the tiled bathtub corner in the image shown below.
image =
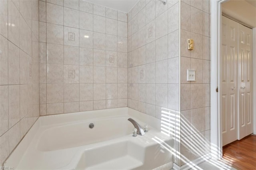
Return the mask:
<path id="1" fill-rule="evenodd" d="M 118 11 L 128 13 L 138 0 L 86 0 Z"/>

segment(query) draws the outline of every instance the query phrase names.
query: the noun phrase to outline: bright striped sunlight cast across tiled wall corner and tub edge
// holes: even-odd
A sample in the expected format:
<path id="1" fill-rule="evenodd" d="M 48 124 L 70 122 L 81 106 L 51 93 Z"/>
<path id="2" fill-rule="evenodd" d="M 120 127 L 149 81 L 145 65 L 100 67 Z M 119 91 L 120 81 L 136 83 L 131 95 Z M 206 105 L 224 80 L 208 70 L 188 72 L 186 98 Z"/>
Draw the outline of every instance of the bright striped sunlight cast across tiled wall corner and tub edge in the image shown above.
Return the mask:
<path id="1" fill-rule="evenodd" d="M 209 160 L 209 156 L 207 156 L 206 153 L 210 152 L 210 141 L 200 132 L 197 132 L 194 126 L 192 127 L 190 120 L 187 120 L 183 115 L 180 117 L 181 114 L 178 111 L 166 109 L 164 107 L 162 107 L 161 110 L 161 132 L 167 136 L 173 136 L 174 145 L 175 143 L 178 143 L 181 151 L 175 149 L 175 146 L 170 147 L 166 142 L 156 136 L 152 138 L 152 140 L 158 142 L 163 148 L 171 152 L 174 156 L 174 159 L 176 158 L 180 160 L 181 164 L 187 164 L 187 166 L 190 168 L 202 170 L 202 168 L 191 161 L 191 155 L 194 154 L 197 156 L 197 158 L 200 157 L 205 161 L 207 160 L 208 163 L 212 164 L 216 168 L 226 170 L 231 169 L 230 166 L 232 166 L 232 162 L 230 162 L 229 165 L 224 165 L 221 162 L 218 163 L 214 160 Z M 186 137 L 181 138 L 181 127 L 182 133 L 185 135 L 187 134 L 187 136 L 190 134 L 191 129 L 191 133 L 194 134 L 191 136 L 191 139 Z M 191 153 L 191 155 L 187 155 L 188 152 Z"/>

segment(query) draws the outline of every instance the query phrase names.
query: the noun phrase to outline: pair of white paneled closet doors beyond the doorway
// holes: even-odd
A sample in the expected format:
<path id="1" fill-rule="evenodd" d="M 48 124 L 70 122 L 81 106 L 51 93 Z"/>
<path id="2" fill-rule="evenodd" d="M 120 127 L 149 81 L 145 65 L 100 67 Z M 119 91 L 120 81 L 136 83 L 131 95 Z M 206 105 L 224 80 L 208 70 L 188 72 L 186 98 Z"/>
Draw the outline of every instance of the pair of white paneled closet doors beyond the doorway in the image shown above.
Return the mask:
<path id="1" fill-rule="evenodd" d="M 252 29 L 222 16 L 222 146 L 252 133 Z"/>

